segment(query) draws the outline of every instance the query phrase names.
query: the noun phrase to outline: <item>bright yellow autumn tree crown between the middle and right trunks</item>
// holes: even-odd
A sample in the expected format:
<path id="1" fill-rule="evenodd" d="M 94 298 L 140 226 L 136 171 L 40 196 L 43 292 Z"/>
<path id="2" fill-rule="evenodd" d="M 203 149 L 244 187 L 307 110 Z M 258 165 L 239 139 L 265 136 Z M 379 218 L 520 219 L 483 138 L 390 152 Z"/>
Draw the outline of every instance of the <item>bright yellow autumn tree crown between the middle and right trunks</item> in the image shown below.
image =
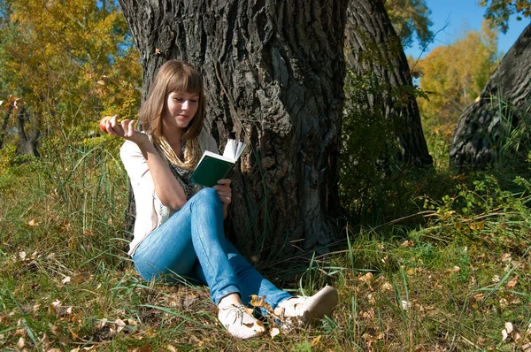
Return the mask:
<path id="1" fill-rule="evenodd" d="M 431 93 L 419 100 L 422 116 L 457 122 L 461 111 L 480 95 L 498 63 L 497 34 L 483 23 L 482 31 L 470 31 L 450 45 L 432 50 L 419 60 L 420 87 Z"/>

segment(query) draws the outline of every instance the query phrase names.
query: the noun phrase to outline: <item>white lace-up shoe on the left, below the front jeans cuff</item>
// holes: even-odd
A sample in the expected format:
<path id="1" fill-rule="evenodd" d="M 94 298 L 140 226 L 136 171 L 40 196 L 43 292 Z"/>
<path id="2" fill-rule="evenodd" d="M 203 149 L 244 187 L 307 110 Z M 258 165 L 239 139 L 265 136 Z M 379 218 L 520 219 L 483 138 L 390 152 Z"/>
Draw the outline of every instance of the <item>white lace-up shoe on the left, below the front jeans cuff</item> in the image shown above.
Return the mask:
<path id="1" fill-rule="evenodd" d="M 221 324 L 234 337 L 242 340 L 252 339 L 266 333 L 266 326 L 252 316 L 252 310 L 243 304 L 231 304 L 220 308 L 218 318 Z"/>

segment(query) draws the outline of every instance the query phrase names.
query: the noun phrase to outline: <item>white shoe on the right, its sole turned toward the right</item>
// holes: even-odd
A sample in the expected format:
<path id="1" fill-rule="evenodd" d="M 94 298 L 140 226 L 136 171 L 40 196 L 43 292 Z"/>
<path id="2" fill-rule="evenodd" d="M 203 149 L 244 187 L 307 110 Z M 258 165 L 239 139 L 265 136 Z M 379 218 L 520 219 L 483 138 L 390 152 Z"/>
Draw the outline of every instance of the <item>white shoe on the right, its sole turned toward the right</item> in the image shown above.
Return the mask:
<path id="1" fill-rule="evenodd" d="M 326 286 L 311 297 L 297 296 L 284 300 L 273 312 L 281 318 L 284 333 L 289 333 L 296 327 L 310 323 L 313 319 L 332 316 L 337 302 L 337 290 Z"/>

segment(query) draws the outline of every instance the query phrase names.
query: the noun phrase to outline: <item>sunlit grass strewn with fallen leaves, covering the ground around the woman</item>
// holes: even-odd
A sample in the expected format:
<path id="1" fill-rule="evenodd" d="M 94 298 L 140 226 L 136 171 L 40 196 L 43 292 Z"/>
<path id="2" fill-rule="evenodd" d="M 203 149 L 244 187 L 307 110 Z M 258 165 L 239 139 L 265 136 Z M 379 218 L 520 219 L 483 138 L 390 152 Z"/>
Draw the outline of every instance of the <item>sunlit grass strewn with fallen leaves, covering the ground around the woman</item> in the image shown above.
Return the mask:
<path id="1" fill-rule="evenodd" d="M 259 263 L 296 294 L 337 287 L 334 317 L 235 341 L 205 287 L 135 273 L 118 147 L 63 136 L 39 160 L 3 150 L 0 349 L 512 351 L 531 342 L 529 165 L 463 176 L 437 149 L 433 170 L 402 171 L 376 193 L 381 207 L 353 214 L 331 253 Z"/>

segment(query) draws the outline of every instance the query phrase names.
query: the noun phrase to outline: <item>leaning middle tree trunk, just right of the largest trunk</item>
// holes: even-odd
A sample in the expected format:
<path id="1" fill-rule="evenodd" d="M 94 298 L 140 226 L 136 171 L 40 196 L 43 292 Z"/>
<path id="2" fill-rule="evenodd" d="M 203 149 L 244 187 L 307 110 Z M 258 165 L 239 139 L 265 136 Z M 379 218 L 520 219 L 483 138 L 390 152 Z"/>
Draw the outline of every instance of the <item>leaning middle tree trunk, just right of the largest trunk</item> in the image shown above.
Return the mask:
<path id="1" fill-rule="evenodd" d="M 392 124 L 406 164 L 432 165 L 420 123 L 412 76 L 400 38 L 382 0 L 350 0 L 347 12 L 348 68 L 368 84 L 358 108 L 378 111 Z M 389 141 L 382 141 L 388 143 Z"/>

